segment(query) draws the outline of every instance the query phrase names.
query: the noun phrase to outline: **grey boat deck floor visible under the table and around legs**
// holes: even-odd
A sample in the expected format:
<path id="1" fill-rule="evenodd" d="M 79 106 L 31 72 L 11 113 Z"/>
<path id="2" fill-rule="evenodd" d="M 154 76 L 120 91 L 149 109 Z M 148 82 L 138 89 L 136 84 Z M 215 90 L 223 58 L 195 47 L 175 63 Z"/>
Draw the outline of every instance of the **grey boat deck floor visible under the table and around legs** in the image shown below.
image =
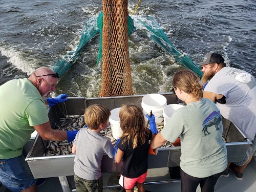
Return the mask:
<path id="1" fill-rule="evenodd" d="M 115 180 L 111 180 L 111 177 L 114 173 L 103 173 L 103 185 L 109 185 L 110 181 L 116 182 Z M 73 177 L 72 177 L 73 178 Z M 148 175 L 146 182 L 150 181 L 163 181 L 169 180 L 169 170 L 168 168 L 155 168 L 155 169 L 148 169 Z M 72 180 L 72 187 L 74 186 L 74 181 Z M 145 182 L 145 183 L 146 183 Z M 114 183 L 111 183 L 114 184 Z M 117 184 L 117 183 L 116 183 Z M 75 188 L 75 187 L 73 187 Z M 180 191 L 180 181 L 176 180 L 175 182 L 171 183 L 164 183 L 164 184 L 146 184 L 145 186 L 147 191 L 152 192 L 159 192 L 159 191 Z M 0 186 L 0 192 L 9 192 L 9 189 L 6 189 L 4 186 Z M 73 190 L 75 191 L 75 190 Z M 104 192 L 118 192 L 122 191 L 120 188 L 104 188 Z M 197 192 L 200 192 L 200 188 L 197 188 Z M 253 156 L 251 162 L 244 170 L 243 180 L 238 181 L 234 179 L 232 173 L 229 173 L 229 177 L 224 178 L 221 177 L 216 186 L 216 192 L 226 192 L 226 191 L 234 191 L 234 192 L 254 192 L 256 191 L 256 156 Z M 62 192 L 62 188 L 59 182 L 58 177 L 48 178 L 47 182 L 38 187 L 38 192 Z"/>

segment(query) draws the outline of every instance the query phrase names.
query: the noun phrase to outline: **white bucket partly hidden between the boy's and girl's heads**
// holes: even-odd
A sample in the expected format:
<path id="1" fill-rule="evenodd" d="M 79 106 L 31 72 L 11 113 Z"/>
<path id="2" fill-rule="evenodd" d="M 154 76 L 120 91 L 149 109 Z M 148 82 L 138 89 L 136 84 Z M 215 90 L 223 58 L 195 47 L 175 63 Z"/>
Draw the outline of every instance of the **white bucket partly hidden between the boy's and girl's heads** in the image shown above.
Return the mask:
<path id="1" fill-rule="evenodd" d="M 112 130 L 112 136 L 114 139 L 118 139 L 122 135 L 122 130 L 120 127 L 120 118 L 119 118 L 119 111 L 121 108 L 116 108 L 111 110 L 111 115 L 109 118 L 111 130 Z"/>

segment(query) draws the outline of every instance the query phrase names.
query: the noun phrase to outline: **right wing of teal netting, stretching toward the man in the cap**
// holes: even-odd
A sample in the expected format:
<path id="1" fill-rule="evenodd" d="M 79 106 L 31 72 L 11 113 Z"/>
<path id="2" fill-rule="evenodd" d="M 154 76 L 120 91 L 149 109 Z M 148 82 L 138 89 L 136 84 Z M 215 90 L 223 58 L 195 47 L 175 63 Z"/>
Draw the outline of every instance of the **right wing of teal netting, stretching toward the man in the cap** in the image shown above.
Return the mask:
<path id="1" fill-rule="evenodd" d="M 163 30 L 160 28 L 158 24 L 154 22 L 154 18 L 147 16 L 147 20 L 150 20 L 152 27 L 148 26 L 142 20 L 138 19 L 139 22 L 151 32 L 150 37 L 165 51 L 167 51 L 170 55 L 173 55 L 175 60 L 184 68 L 194 71 L 199 77 L 202 77 L 203 72 L 199 68 L 198 64 L 191 60 L 184 53 L 180 53 L 180 51 L 170 42 L 170 40 L 166 37 Z"/>

